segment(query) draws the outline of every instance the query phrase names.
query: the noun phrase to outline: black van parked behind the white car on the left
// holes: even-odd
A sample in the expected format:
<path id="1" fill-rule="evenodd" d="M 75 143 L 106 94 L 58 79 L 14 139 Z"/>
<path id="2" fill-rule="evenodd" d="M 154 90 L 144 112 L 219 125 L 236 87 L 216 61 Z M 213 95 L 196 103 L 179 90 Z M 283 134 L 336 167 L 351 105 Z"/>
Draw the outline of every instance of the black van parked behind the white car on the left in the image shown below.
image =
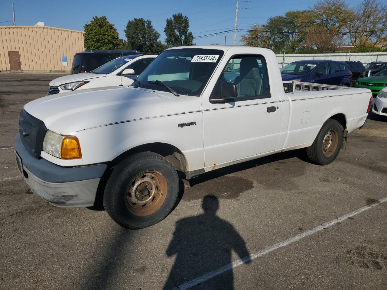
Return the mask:
<path id="1" fill-rule="evenodd" d="M 115 58 L 140 53 L 138 50 L 88 50 L 75 53 L 70 74 L 91 72 Z"/>

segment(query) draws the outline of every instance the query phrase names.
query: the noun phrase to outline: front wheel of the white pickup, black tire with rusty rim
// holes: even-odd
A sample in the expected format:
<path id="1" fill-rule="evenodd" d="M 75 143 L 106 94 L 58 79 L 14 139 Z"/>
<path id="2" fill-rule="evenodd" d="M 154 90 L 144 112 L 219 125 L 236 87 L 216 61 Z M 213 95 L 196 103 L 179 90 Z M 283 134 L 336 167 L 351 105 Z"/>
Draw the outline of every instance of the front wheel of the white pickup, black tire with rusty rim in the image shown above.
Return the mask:
<path id="1" fill-rule="evenodd" d="M 152 181 L 154 177 L 157 182 Z M 179 178 L 173 165 L 159 154 L 141 152 L 113 167 L 103 205 L 122 227 L 142 229 L 160 222 L 170 213 L 178 192 Z M 141 198 L 147 200 L 152 196 L 153 199 L 141 206 L 145 202 Z"/>

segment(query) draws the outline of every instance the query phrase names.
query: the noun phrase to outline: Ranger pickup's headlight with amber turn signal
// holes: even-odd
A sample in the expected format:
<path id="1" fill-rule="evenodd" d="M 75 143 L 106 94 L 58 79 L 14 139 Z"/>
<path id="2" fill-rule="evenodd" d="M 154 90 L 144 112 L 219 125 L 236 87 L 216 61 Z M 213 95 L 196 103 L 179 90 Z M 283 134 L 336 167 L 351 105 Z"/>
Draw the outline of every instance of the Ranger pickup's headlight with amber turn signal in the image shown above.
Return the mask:
<path id="1" fill-rule="evenodd" d="M 50 130 L 43 140 L 43 151 L 61 159 L 82 158 L 77 137 L 60 135 Z"/>

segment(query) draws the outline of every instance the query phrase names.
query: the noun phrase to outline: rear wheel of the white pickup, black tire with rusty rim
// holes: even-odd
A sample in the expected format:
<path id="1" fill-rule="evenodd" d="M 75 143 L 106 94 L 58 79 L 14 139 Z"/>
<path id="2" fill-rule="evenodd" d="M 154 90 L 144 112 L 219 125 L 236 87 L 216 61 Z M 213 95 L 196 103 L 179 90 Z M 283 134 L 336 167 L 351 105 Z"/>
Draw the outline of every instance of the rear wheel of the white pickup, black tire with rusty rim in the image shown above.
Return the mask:
<path id="1" fill-rule="evenodd" d="M 339 122 L 334 119 L 328 119 L 322 125 L 312 146 L 307 148 L 308 159 L 318 165 L 332 163 L 341 148 L 342 131 L 343 129 Z"/>

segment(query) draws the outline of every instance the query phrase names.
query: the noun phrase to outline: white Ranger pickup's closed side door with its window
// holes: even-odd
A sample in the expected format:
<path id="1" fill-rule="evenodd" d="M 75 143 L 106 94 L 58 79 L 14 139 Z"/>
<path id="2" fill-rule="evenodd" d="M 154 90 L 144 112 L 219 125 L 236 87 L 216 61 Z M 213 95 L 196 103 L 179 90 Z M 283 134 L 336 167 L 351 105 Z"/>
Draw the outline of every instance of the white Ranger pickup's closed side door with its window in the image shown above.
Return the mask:
<path id="1" fill-rule="evenodd" d="M 232 80 L 223 72 L 210 99 L 220 98 L 221 84 L 233 82 L 238 97 L 226 103 L 202 99 L 204 164 L 206 170 L 273 151 L 279 140 L 282 108 L 279 96 L 272 95 L 265 58 L 238 55 L 229 59 L 240 75 Z"/>

